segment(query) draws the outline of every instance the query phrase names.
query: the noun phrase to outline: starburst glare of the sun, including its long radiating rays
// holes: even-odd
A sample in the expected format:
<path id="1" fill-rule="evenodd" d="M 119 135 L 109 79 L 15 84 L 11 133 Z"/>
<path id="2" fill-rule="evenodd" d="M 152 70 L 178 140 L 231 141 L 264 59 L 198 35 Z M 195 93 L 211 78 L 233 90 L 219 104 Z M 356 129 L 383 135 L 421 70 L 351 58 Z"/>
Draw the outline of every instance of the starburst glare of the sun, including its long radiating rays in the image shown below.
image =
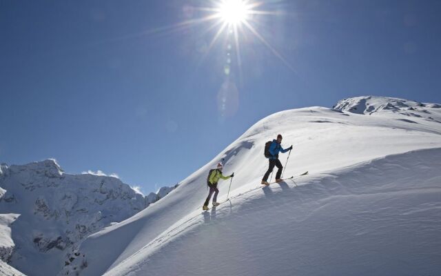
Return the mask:
<path id="1" fill-rule="evenodd" d="M 283 10 L 278 8 L 280 1 L 289 0 L 194 0 L 195 3 L 201 3 L 201 6 L 185 4 L 183 12 L 185 17 L 188 17 L 187 20 L 173 26 L 152 30 L 152 32 L 177 32 L 193 28 L 197 25 L 207 24 L 207 28 L 202 30 L 201 34 L 213 33 L 213 37 L 203 47 L 201 60 L 205 59 L 218 41 L 223 41 L 227 53 L 224 66 L 225 75 L 230 75 L 233 66 L 232 57 L 235 56 L 240 78 L 243 64 L 241 52 L 248 49 L 245 48 L 245 43 L 252 41 L 253 38 L 263 43 L 288 68 L 293 70 L 292 66 L 271 45 L 270 40 L 268 41 L 263 37 L 263 34 L 261 34 L 262 30 L 259 30 L 259 28 L 265 27 L 260 21 L 262 17 L 276 17 L 284 14 Z M 271 32 L 268 35 L 271 35 Z M 246 39 L 242 39 L 242 36 L 246 37 Z M 241 43 L 243 45 L 240 45 Z"/>

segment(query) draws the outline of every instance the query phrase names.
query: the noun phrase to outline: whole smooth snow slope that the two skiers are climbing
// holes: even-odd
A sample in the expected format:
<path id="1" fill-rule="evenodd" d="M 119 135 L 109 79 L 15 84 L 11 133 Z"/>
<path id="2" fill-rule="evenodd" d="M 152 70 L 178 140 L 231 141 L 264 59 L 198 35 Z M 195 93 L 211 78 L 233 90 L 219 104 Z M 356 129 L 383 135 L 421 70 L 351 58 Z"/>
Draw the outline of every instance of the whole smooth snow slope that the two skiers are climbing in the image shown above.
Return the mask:
<path id="1" fill-rule="evenodd" d="M 360 97 L 335 108 L 259 121 L 170 195 L 85 239 L 60 275 L 441 274 L 440 106 Z M 285 176 L 310 175 L 262 188 L 278 133 L 294 144 Z M 232 200 L 204 213 L 222 158 Z"/>

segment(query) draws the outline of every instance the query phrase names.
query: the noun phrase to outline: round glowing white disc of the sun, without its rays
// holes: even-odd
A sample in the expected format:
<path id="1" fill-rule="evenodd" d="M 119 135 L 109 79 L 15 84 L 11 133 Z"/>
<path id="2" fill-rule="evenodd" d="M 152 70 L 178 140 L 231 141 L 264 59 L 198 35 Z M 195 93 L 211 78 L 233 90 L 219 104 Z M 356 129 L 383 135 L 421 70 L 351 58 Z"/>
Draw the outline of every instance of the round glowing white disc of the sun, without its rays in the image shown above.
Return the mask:
<path id="1" fill-rule="evenodd" d="M 249 12 L 250 8 L 243 0 L 223 0 L 218 8 L 218 16 L 229 25 L 245 22 Z"/>

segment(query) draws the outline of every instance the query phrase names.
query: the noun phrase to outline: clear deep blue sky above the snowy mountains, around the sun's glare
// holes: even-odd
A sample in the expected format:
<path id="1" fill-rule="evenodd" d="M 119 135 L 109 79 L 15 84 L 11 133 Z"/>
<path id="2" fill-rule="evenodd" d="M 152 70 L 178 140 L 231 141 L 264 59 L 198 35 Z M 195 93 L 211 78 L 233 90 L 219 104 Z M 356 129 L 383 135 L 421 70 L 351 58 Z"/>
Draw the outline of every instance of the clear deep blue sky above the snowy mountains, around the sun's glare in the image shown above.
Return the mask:
<path id="1" fill-rule="evenodd" d="M 0 161 L 53 157 L 147 193 L 280 110 L 358 95 L 441 102 L 441 1 L 264 1 L 256 10 L 277 15 L 249 22 L 284 61 L 244 28 L 240 66 L 227 32 L 207 50 L 214 21 L 176 28 L 209 5 L 0 1 Z"/>

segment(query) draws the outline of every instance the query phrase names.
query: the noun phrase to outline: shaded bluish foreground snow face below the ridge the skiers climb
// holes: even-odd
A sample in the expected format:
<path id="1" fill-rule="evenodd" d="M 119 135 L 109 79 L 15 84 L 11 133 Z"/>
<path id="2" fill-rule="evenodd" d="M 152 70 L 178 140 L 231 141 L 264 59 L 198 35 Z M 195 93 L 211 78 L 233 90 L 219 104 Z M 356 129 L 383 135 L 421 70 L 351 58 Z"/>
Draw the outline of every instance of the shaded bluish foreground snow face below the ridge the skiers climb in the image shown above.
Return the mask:
<path id="1" fill-rule="evenodd" d="M 435 163 L 441 168 L 440 156 L 440 148 L 419 150 L 369 161 L 322 178 L 305 177 L 298 180 L 297 187 L 282 183 L 278 188 L 251 190 L 232 198 L 231 202 L 212 208 L 210 215 L 199 212 L 186 221 L 178 222 L 177 226 L 128 258 L 130 266 L 122 262 L 106 275 L 143 275 L 144 271 L 149 271 L 149 275 L 206 275 L 207 271 L 212 275 L 440 273 L 441 264 L 437 261 L 441 259 L 441 239 L 437 240 L 437 237 L 440 238 L 441 228 L 441 176 L 436 166 L 428 166 Z M 423 168 L 429 176 L 424 185 L 416 184 L 420 179 L 418 175 L 412 177 L 415 166 Z M 372 178 L 360 181 L 360 175 L 366 172 Z M 344 208 L 347 210 L 342 210 Z M 333 213 L 341 214 L 342 211 L 343 215 Z M 282 222 L 286 224 L 283 227 L 278 225 L 280 217 L 287 218 Z M 241 225 L 241 221 L 247 223 Z M 307 241 L 311 242 L 310 233 L 318 230 L 314 229 L 317 224 L 328 225 L 323 228 L 327 229 L 327 233 L 317 235 L 325 235 L 320 239 L 323 244 L 314 241 L 308 244 Z M 339 224 L 349 228 L 339 227 Z M 235 229 L 236 226 L 238 229 Z M 263 237 L 266 233 L 285 238 L 294 236 L 286 244 L 278 242 L 278 246 L 274 246 Z M 419 234 L 433 237 L 433 244 L 414 238 Z M 209 243 L 203 242 L 205 238 Z M 401 248 L 409 257 L 396 258 L 394 253 L 400 253 L 400 239 L 413 238 L 410 246 Z M 366 243 L 360 242 L 360 239 Z M 263 257 L 253 251 L 250 255 L 253 259 L 248 260 L 252 265 L 235 263 L 234 257 L 227 252 L 237 250 L 236 257 L 239 257 L 243 248 L 238 248 L 237 243 L 245 243 L 253 250 L 259 248 Z M 255 244 L 260 246 L 254 248 Z M 334 257 L 320 254 L 324 260 L 310 262 L 316 259 L 320 248 L 334 253 Z M 347 248 L 351 250 L 349 253 Z M 311 251 L 314 254 L 309 253 Z M 280 266 L 259 265 L 268 258 L 274 261 L 274 257 L 266 255 L 277 252 L 291 262 L 283 262 Z M 354 257 L 360 255 L 362 257 Z M 347 259 L 347 262 L 342 263 L 342 259 Z M 213 265 L 213 260 L 216 260 L 216 265 Z M 418 260 L 427 265 L 424 273 Z M 289 263 L 292 265 L 287 265 Z M 321 271 L 325 267 L 326 270 Z M 334 272 L 329 273 L 329 270 Z"/>

